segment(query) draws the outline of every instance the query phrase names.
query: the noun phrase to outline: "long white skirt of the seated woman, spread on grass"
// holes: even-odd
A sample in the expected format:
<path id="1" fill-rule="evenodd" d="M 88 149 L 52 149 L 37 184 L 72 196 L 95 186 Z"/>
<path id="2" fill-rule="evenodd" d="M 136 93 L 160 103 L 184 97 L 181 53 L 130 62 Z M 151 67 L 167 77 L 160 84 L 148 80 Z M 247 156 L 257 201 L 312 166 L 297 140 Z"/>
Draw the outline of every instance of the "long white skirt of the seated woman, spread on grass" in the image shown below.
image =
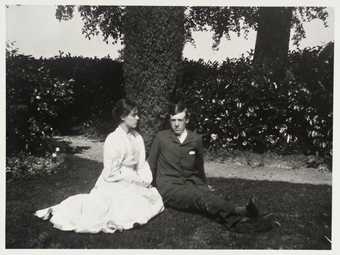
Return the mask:
<path id="1" fill-rule="evenodd" d="M 113 182 L 95 186 L 88 194 L 77 194 L 61 203 L 38 210 L 35 215 L 48 219 L 63 231 L 114 233 L 145 224 L 161 213 L 164 205 L 154 187 Z"/>

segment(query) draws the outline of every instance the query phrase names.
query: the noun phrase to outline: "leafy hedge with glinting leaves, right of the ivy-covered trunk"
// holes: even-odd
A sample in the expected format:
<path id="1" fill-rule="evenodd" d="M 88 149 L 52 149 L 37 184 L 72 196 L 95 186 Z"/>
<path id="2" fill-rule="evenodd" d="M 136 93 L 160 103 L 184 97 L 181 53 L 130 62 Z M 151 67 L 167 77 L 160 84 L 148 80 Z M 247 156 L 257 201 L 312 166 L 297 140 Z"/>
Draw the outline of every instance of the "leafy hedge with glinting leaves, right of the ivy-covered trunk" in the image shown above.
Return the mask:
<path id="1" fill-rule="evenodd" d="M 192 127 L 210 148 L 331 156 L 333 59 L 320 52 L 292 52 L 283 80 L 253 66 L 251 56 L 220 66 L 187 61 L 182 93 L 196 113 Z"/>

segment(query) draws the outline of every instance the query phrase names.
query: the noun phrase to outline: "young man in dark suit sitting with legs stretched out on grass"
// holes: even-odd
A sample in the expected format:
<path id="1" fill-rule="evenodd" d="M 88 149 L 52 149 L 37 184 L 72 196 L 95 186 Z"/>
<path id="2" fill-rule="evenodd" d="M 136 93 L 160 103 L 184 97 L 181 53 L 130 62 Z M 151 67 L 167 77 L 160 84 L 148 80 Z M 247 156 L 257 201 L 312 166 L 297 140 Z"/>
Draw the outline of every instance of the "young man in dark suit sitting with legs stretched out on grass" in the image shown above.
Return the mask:
<path id="1" fill-rule="evenodd" d="M 181 102 L 172 105 L 171 129 L 159 132 L 151 146 L 148 162 L 163 202 L 166 207 L 202 213 L 229 230 L 241 232 L 239 226 L 245 225 L 240 223 L 259 216 L 254 199 L 237 207 L 210 190 L 204 172 L 202 137 L 186 128 L 188 122 L 186 106 Z M 252 226 L 245 232 L 256 231 Z"/>

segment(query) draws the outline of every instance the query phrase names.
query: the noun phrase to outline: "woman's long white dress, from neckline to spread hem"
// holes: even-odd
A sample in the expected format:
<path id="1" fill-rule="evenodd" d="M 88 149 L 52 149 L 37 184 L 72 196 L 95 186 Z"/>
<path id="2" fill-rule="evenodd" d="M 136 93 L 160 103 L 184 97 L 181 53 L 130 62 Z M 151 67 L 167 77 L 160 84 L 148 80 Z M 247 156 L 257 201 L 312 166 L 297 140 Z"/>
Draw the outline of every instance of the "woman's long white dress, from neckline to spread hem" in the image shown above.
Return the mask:
<path id="1" fill-rule="evenodd" d="M 104 169 L 88 194 L 68 197 L 61 203 L 38 210 L 64 231 L 113 233 L 145 224 L 164 210 L 157 189 L 151 186 L 152 173 L 145 161 L 143 138 L 121 127 L 104 143 Z"/>

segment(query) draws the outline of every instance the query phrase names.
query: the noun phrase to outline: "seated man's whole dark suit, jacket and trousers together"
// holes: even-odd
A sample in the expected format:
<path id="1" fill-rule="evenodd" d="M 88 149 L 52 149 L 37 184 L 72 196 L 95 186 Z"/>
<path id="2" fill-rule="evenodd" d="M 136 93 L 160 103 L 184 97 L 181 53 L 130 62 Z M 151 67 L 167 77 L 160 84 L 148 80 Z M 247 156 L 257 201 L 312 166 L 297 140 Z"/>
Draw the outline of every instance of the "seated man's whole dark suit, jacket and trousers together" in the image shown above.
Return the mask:
<path id="1" fill-rule="evenodd" d="M 180 143 L 171 130 L 161 131 L 153 141 L 148 162 L 165 206 L 202 213 L 227 226 L 239 219 L 235 206 L 208 188 L 201 136 L 188 130 Z"/>

